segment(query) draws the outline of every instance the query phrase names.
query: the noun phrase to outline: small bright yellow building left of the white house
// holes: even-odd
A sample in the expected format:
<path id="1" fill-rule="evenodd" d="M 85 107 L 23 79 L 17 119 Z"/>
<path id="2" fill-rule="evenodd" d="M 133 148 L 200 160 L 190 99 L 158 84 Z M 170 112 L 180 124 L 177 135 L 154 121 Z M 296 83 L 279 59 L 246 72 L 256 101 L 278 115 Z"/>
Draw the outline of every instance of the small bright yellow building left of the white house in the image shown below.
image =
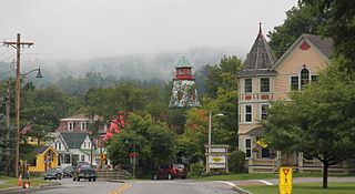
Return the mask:
<path id="1" fill-rule="evenodd" d="M 30 173 L 42 173 L 58 166 L 58 152 L 52 146 L 41 146 L 36 150 L 36 159 L 30 163 Z"/>

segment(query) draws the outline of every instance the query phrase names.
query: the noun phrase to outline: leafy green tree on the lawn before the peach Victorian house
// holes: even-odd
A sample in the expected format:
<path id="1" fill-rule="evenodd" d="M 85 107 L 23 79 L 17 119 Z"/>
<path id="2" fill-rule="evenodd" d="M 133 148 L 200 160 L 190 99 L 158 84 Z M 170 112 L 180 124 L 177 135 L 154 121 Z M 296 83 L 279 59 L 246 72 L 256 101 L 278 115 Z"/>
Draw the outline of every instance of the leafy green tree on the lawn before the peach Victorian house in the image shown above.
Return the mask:
<path id="1" fill-rule="evenodd" d="M 318 83 L 292 93 L 292 101 L 273 103 L 263 123 L 273 147 L 323 163 L 324 188 L 328 167 L 355 156 L 355 81 L 343 82 L 338 67 L 333 62 Z"/>

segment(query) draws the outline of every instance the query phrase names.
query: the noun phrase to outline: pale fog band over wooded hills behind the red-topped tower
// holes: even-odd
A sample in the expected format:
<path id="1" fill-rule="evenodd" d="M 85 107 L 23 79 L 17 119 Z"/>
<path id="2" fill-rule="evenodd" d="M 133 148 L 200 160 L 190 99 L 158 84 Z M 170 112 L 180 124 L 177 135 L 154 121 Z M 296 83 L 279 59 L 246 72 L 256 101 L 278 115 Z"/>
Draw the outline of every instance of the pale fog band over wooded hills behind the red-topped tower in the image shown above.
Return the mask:
<path id="1" fill-rule="evenodd" d="M 100 73 L 103 76 L 112 75 L 118 79 L 162 79 L 170 81 L 174 78 L 174 67 L 181 55 L 185 55 L 189 59 L 193 65 L 193 72 L 195 73 L 200 68 L 206 64 L 217 64 L 223 55 L 230 54 L 231 53 L 200 49 L 185 54 L 138 53 L 90 59 L 44 59 L 37 57 L 36 59 L 32 58 L 32 60 L 24 60 L 22 62 L 21 71 L 26 72 L 33 68 L 41 67 L 42 74 L 44 76 L 40 81 L 41 85 L 44 82 L 55 83 L 59 79 L 67 76 L 80 78 L 85 75 L 88 72 Z M 1 69 L 3 69 L 3 65 Z M 32 80 L 32 76 L 28 76 L 28 79 Z M 38 81 L 34 81 L 34 83 Z"/>

